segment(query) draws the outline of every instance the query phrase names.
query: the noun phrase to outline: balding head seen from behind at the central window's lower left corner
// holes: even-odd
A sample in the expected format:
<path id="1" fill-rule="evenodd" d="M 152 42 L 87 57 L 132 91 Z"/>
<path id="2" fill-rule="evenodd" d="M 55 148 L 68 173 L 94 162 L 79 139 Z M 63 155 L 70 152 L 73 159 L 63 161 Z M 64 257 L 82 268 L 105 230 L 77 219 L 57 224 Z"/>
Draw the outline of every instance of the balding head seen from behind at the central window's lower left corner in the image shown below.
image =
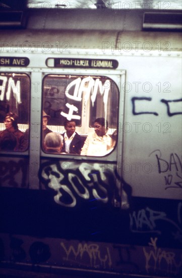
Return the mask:
<path id="1" fill-rule="evenodd" d="M 63 147 L 63 136 L 56 132 L 49 132 L 44 138 L 44 149 L 48 153 L 60 154 Z"/>

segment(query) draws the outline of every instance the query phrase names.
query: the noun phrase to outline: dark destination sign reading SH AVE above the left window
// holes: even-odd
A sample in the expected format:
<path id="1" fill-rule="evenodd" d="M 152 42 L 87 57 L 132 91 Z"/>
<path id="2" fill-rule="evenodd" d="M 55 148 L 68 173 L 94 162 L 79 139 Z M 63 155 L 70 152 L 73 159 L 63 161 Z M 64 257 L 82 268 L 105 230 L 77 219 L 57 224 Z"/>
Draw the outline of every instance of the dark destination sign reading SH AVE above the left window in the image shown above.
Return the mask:
<path id="1" fill-rule="evenodd" d="M 0 66 L 4 67 L 27 67 L 30 60 L 26 57 L 1 57 Z"/>

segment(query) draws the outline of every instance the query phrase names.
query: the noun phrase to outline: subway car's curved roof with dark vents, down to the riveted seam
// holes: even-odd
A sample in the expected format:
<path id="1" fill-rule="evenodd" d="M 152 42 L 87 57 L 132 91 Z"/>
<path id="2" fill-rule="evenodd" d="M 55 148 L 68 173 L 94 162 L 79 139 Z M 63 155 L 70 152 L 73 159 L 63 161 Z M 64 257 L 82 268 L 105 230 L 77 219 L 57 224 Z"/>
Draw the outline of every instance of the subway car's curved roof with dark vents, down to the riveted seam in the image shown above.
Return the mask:
<path id="1" fill-rule="evenodd" d="M 117 49 L 119 43 L 140 41 L 134 43 L 134 48 L 140 49 L 150 39 L 153 45 L 160 41 L 162 50 L 170 39 L 170 51 L 181 50 L 181 11 L 29 9 L 3 14 L 1 41 L 11 47 L 48 41 L 51 49 L 56 49 L 57 41 L 68 41 L 70 49 L 101 49 L 106 41 L 109 50 Z"/>

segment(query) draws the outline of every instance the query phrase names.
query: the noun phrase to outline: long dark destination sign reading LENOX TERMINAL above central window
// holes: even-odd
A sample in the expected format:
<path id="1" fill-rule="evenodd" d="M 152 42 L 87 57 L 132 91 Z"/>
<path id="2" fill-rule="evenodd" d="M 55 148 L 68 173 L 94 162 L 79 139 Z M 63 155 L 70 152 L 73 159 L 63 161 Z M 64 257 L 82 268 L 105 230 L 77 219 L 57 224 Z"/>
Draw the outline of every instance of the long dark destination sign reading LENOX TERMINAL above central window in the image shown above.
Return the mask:
<path id="1" fill-rule="evenodd" d="M 118 62 L 116 60 L 100 59 L 48 58 L 46 65 L 55 68 L 116 69 Z"/>

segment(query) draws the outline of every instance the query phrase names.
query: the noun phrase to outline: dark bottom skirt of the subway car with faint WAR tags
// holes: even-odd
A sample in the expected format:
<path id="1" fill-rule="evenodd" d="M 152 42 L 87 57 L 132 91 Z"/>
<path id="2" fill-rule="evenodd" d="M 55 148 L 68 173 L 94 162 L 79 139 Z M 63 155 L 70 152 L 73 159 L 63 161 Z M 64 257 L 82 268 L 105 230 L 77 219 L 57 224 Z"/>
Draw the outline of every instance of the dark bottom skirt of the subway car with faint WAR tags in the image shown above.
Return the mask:
<path id="1" fill-rule="evenodd" d="M 94 277 L 104 276 L 105 271 L 109 277 L 114 272 L 123 277 L 125 273 L 134 276 L 143 273 L 145 276 L 149 272 L 154 274 L 154 271 L 157 276 L 166 277 L 166 272 L 180 274 L 182 266 L 181 251 L 158 248 L 157 238 L 148 238 L 142 246 L 131 246 L 50 237 L 38 241 L 31 236 L 1 234 L 0 247 L 1 266 L 9 265 L 12 269 L 18 266 L 20 270 L 26 270 L 27 266 L 38 272 L 44 267 L 47 275 L 50 270 L 51 273 L 55 270 L 62 276 L 64 269 L 77 267 L 81 274 L 83 270 L 90 269 Z"/>

